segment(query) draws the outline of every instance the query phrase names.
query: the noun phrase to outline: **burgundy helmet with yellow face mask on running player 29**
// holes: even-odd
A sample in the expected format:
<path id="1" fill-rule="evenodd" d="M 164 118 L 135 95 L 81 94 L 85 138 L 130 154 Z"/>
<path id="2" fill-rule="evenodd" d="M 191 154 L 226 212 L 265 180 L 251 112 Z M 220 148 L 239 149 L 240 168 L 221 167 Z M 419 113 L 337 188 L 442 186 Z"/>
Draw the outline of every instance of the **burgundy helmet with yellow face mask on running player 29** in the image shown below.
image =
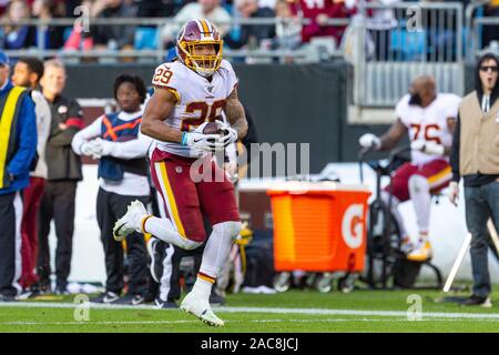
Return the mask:
<path id="1" fill-rule="evenodd" d="M 205 78 L 213 75 L 222 64 L 222 47 L 218 31 L 207 20 L 189 21 L 176 39 L 181 61 Z"/>

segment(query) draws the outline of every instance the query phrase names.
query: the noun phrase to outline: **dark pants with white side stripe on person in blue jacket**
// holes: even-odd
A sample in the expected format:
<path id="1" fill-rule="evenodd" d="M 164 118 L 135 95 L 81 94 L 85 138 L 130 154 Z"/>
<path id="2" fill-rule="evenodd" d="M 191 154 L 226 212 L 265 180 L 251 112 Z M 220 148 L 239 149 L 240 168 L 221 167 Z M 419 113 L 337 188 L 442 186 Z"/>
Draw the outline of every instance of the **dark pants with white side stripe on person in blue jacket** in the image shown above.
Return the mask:
<path id="1" fill-rule="evenodd" d="M 0 194 L 0 294 L 14 296 L 21 277 L 22 201 L 19 192 Z"/>

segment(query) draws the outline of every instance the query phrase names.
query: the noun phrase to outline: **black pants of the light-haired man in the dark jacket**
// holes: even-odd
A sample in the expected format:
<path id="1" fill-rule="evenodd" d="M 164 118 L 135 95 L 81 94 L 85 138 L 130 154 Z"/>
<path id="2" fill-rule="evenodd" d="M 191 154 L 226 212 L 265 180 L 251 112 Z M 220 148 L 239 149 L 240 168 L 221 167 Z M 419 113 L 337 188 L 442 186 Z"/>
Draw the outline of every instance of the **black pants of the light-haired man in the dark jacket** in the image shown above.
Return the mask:
<path id="1" fill-rule="evenodd" d="M 74 203 L 77 181 L 48 181 L 40 203 L 38 274 L 42 284 L 50 284 L 50 223 L 53 219 L 58 245 L 55 248 L 57 287 L 65 290 L 73 252 Z"/>

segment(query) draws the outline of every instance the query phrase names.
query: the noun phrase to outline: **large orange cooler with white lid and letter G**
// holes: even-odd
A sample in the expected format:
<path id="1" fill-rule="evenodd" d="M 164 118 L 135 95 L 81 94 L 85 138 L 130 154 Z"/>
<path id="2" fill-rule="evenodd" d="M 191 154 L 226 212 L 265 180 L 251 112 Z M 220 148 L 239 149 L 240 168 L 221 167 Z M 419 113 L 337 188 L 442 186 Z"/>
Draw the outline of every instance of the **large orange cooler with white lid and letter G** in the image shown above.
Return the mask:
<path id="1" fill-rule="evenodd" d="M 276 271 L 361 272 L 370 191 L 336 182 L 283 182 L 267 190 Z"/>

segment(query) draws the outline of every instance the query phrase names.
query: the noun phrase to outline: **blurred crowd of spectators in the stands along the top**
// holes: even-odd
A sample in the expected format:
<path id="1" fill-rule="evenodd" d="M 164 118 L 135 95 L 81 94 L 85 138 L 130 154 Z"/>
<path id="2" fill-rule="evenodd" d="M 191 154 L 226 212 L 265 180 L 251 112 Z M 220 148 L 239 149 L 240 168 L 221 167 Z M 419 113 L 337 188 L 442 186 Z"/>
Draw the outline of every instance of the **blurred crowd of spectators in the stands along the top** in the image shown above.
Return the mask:
<path id="1" fill-rule="evenodd" d="M 126 50 L 167 49 L 175 41 L 180 23 L 193 18 L 206 18 L 217 24 L 228 49 L 296 49 L 316 37 L 326 37 L 339 47 L 346 26 L 332 26 L 329 19 L 350 19 L 357 12 L 359 0 L 0 0 L 0 16 L 8 23 L 0 28 L 0 48 L 19 50 L 42 48 L 52 50 Z M 427 0 L 428 1 L 428 0 Z M 394 4 L 399 0 L 367 0 Z M 465 1 L 465 6 L 469 3 Z M 85 10 L 82 10 L 84 6 Z M 89 16 L 89 28 L 81 21 L 74 26 L 49 24 L 43 28 L 18 24 L 24 19 L 44 20 Z M 490 0 L 479 16 L 499 16 L 499 1 Z M 162 29 L 157 26 L 95 24 L 92 19 L 172 18 Z M 237 24 L 233 19 L 278 18 L 276 24 Z M 390 9 L 368 11 L 370 41 L 376 47 L 373 57 L 383 60 L 388 55 L 396 37 L 399 16 Z M 303 22 L 306 23 L 303 23 Z M 440 26 L 440 24 L 438 24 Z M 448 24 L 445 24 L 447 27 Z M 454 24 L 455 27 L 455 24 Z M 450 32 L 455 28 L 448 28 Z M 499 26 L 482 29 L 481 47 L 499 40 Z M 449 43 L 449 33 L 438 34 L 428 42 Z M 397 34 L 399 36 L 399 34 Z M 434 36 L 435 37 L 435 36 Z M 451 40 L 456 34 L 450 33 Z M 438 44 L 437 43 L 437 44 Z M 437 45 L 436 44 L 436 45 Z M 439 45 L 440 45 L 439 44 Z M 450 45 L 451 47 L 451 45 Z"/>

